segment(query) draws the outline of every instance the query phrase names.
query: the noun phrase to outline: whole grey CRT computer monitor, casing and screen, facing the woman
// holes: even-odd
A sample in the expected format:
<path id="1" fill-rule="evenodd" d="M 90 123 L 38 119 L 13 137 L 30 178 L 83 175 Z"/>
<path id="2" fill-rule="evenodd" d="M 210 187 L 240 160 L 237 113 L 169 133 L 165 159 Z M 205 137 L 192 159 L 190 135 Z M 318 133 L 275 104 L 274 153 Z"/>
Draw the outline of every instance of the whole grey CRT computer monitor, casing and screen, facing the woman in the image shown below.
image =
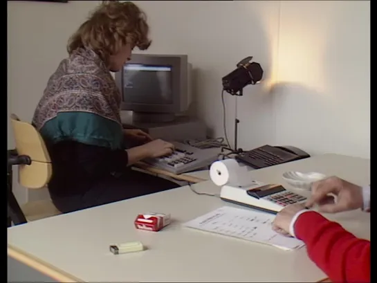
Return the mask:
<path id="1" fill-rule="evenodd" d="M 190 106 L 187 55 L 133 54 L 116 73 L 122 110 L 142 122 L 168 122 Z"/>

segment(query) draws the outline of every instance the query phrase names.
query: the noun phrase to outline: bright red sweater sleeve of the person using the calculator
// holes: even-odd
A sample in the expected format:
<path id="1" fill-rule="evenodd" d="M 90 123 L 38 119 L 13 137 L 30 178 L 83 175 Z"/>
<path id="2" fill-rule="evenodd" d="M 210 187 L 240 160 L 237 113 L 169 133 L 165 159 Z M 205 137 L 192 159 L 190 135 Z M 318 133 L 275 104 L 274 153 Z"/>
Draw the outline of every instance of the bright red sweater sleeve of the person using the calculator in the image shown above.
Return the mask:
<path id="1" fill-rule="evenodd" d="M 332 282 L 370 282 L 370 241 L 358 239 L 340 224 L 312 211 L 298 217 L 295 235 Z"/>

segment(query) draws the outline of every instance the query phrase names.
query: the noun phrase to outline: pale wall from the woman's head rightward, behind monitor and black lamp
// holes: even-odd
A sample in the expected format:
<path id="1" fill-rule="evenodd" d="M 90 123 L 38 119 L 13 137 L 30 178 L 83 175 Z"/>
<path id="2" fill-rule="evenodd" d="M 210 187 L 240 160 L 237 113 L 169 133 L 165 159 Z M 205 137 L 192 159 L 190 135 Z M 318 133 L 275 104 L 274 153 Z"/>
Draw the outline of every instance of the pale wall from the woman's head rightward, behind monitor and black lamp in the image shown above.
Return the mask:
<path id="1" fill-rule="evenodd" d="M 214 136 L 223 133 L 221 77 L 252 55 L 265 80 L 237 98 L 240 147 L 369 157 L 369 1 L 136 3 L 151 23 L 149 52 L 187 53 L 198 69 L 197 111 Z M 231 143 L 235 99 L 226 95 Z"/>

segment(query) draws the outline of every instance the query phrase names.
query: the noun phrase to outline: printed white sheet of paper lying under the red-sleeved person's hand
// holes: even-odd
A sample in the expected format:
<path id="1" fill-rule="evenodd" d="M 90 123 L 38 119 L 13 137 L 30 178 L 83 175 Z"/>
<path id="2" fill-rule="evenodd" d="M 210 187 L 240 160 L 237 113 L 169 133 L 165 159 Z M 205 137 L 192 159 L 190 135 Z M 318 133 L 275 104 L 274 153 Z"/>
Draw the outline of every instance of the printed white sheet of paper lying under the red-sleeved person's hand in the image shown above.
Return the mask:
<path id="1" fill-rule="evenodd" d="M 298 239 L 286 237 L 275 232 L 271 227 L 274 218 L 275 215 L 265 212 L 223 206 L 183 225 L 207 232 L 268 244 L 284 250 L 294 250 L 304 246 L 304 243 Z"/>

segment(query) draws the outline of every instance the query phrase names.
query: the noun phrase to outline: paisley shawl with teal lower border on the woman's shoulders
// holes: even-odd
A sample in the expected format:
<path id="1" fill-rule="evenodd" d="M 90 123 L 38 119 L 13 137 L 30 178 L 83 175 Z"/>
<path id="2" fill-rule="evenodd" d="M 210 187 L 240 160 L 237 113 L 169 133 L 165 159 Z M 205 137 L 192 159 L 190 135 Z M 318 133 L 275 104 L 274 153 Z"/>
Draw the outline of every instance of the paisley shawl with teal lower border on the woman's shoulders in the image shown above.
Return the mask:
<path id="1" fill-rule="evenodd" d="M 48 80 L 33 125 L 48 144 L 75 140 L 122 148 L 120 91 L 96 53 L 80 48 Z"/>

